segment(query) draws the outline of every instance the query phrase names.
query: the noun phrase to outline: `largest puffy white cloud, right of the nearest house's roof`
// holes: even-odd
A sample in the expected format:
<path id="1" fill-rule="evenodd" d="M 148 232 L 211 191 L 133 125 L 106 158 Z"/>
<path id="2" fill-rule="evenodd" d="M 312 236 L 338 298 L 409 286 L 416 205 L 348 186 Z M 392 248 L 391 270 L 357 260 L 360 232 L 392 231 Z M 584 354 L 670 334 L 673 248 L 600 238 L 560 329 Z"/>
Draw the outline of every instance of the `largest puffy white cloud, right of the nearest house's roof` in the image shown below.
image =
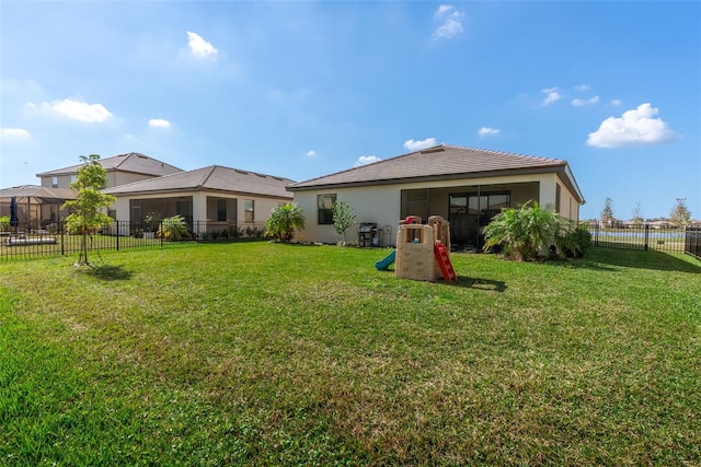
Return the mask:
<path id="1" fill-rule="evenodd" d="M 648 145 L 670 141 L 676 133 L 660 118 L 653 118 L 659 110 L 650 103 L 624 112 L 620 118 L 609 117 L 599 129 L 589 133 L 587 144 L 595 148 L 622 148 Z"/>

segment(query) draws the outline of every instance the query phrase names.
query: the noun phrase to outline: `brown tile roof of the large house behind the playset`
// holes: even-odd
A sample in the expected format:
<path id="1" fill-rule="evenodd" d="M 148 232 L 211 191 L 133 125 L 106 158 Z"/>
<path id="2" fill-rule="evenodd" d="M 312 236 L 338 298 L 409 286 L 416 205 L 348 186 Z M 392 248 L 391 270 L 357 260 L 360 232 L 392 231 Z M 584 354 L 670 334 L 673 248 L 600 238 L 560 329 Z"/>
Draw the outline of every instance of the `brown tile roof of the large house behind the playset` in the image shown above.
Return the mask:
<path id="1" fill-rule="evenodd" d="M 560 159 L 439 144 L 374 164 L 336 172 L 288 186 L 290 191 L 342 185 L 380 185 L 458 177 L 504 175 L 516 171 L 562 171 Z"/>

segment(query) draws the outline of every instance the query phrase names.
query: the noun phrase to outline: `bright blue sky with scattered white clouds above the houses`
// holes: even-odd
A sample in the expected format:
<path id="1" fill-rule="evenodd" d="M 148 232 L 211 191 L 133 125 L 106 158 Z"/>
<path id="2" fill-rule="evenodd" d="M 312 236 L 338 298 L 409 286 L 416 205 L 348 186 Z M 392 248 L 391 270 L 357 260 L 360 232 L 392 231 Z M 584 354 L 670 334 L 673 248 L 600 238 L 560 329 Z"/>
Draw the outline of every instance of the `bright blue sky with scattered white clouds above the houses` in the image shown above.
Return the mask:
<path id="1" fill-rule="evenodd" d="M 0 187 L 141 152 L 304 180 L 450 143 L 701 219 L 701 3 L 0 2 Z"/>

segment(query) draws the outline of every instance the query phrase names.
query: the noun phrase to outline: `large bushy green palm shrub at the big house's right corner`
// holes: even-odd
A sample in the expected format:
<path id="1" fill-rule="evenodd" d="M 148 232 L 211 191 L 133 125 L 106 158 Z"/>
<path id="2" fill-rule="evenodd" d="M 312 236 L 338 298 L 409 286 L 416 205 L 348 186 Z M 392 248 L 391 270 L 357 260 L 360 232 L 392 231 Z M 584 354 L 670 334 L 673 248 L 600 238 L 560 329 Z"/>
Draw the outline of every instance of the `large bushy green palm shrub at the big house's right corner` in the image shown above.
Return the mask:
<path id="1" fill-rule="evenodd" d="M 530 200 L 518 209 L 504 209 L 492 219 L 484 229 L 483 249 L 503 246 L 507 256 L 531 260 L 555 245 L 558 235 L 568 230 L 567 223 L 551 208 Z"/>

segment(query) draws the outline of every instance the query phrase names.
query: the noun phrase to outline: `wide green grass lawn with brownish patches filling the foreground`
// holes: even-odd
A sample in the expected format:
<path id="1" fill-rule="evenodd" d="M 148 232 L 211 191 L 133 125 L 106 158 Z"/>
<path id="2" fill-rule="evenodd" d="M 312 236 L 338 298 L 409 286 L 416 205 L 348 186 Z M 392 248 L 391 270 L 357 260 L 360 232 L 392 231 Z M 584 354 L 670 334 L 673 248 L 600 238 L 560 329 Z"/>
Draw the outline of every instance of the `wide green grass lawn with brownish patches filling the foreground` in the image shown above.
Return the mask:
<path id="1" fill-rule="evenodd" d="M 701 262 L 387 253 L 1 264 L 0 464 L 701 465 Z"/>

